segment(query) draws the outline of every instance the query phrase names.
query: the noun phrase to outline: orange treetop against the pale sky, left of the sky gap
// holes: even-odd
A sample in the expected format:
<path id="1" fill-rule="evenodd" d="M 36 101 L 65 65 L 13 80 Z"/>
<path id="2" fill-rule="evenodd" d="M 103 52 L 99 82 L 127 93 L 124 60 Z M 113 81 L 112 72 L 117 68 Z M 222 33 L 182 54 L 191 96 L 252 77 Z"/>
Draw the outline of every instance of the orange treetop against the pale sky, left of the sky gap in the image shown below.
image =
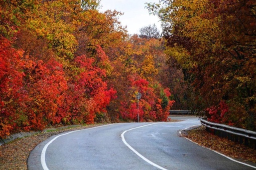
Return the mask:
<path id="1" fill-rule="evenodd" d="M 125 30 L 117 21 L 120 12 L 106 11 L 100 13 L 97 10 L 86 10 L 79 13 L 79 24 L 75 35 L 78 39 L 78 54 L 84 49 L 102 47 L 115 47 L 125 36 Z"/>

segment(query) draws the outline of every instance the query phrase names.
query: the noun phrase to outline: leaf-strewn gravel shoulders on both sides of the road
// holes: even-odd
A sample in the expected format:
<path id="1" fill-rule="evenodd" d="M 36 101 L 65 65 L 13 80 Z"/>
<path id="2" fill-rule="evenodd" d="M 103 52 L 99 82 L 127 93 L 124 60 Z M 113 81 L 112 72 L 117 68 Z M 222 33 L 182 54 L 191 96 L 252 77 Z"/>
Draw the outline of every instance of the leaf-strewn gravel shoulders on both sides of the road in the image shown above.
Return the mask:
<path id="1" fill-rule="evenodd" d="M 57 130 L 52 129 L 55 131 L 46 130 L 45 132 L 39 134 L 19 138 L 7 144 L 3 144 L 0 146 L 0 170 L 28 169 L 27 159 L 29 157 L 29 154 L 40 142 L 46 140 L 50 136 L 65 131 L 90 128 L 99 125 L 103 124 L 92 124 Z M 198 143 L 199 145 L 211 148 L 229 157 L 235 158 L 245 163 L 256 163 L 256 151 L 254 149 L 212 135 L 208 133 L 202 126 L 189 130 L 183 135 L 185 135 L 185 137 L 191 139 L 192 141 Z"/>

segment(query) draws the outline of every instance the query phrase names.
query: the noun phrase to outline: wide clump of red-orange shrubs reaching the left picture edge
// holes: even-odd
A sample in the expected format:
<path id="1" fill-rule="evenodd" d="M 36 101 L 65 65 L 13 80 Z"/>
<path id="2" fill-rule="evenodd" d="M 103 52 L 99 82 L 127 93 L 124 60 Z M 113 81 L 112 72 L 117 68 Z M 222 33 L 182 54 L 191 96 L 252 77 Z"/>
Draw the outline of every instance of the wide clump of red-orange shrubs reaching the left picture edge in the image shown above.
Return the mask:
<path id="1" fill-rule="evenodd" d="M 54 59 L 33 61 L 9 40 L 0 41 L 0 136 L 59 123 L 67 89 L 62 65 Z"/>

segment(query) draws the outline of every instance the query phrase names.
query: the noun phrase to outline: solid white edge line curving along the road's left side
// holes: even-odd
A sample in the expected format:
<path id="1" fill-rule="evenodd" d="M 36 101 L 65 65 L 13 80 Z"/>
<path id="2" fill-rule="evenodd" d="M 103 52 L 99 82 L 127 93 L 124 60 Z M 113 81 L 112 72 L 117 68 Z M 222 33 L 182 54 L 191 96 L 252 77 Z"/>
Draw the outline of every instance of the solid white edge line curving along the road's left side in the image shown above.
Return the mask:
<path id="1" fill-rule="evenodd" d="M 115 124 L 115 123 L 112 123 L 112 124 Z M 101 125 L 101 126 L 96 126 L 96 127 L 91 127 L 91 128 L 85 128 L 85 129 L 81 129 L 81 130 L 88 130 L 88 129 L 92 129 L 92 128 L 98 128 L 98 127 L 103 127 L 103 126 L 107 126 L 107 125 L 112 125 L 112 124 L 106 124 L 106 125 Z M 46 164 L 46 161 L 45 161 L 45 154 L 46 154 L 46 149 L 47 147 L 58 137 L 60 136 L 63 136 L 63 135 L 66 135 L 66 134 L 69 134 L 69 133 L 73 133 L 73 132 L 76 132 L 76 131 L 81 131 L 81 130 L 75 130 L 75 131 L 70 131 L 70 132 L 67 132 L 65 134 L 60 134 L 56 137 L 54 137 L 51 141 L 49 141 L 43 148 L 42 152 L 41 152 L 41 165 L 43 167 L 44 170 L 49 170 L 49 168 L 47 167 L 47 164 Z"/>

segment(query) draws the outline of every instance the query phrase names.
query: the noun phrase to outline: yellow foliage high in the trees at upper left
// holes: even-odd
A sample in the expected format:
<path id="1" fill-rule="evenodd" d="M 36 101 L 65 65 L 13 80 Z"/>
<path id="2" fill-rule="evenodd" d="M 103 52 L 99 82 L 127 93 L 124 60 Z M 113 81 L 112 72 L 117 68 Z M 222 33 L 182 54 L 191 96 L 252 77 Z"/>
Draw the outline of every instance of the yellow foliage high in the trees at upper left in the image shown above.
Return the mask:
<path id="1" fill-rule="evenodd" d="M 61 0 L 40 3 L 25 23 L 25 29 L 47 41 L 48 46 L 42 47 L 51 49 L 64 66 L 68 64 L 65 59 L 73 58 L 78 44 L 73 34 L 75 27 L 65 20 L 68 10 Z"/>

